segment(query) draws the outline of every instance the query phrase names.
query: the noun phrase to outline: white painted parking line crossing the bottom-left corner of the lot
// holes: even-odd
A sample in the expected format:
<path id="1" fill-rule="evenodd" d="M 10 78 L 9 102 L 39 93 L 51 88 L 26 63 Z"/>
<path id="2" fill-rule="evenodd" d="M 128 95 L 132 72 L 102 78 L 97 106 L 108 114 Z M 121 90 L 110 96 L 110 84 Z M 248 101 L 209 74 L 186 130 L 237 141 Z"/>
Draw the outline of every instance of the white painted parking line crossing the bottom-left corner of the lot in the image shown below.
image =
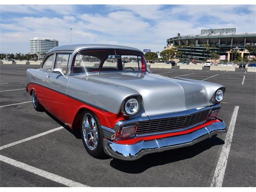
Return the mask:
<path id="1" fill-rule="evenodd" d="M 8 158 L 6 156 L 0 155 L 0 161 L 5 162 L 7 164 L 10 164 L 12 166 L 18 167 L 20 169 L 26 170 L 28 172 L 34 173 L 36 175 L 39 175 L 41 177 L 47 178 L 49 180 L 52 180 L 54 182 L 66 185 L 68 187 L 88 187 L 87 185 L 75 182 L 73 180 L 69 180 L 67 178 L 64 178 L 62 176 L 58 176 L 56 174 L 52 174 L 50 172 L 44 171 L 42 169 L 38 169 L 36 167 L 30 166 L 28 164 L 16 161 L 14 159 Z"/>

